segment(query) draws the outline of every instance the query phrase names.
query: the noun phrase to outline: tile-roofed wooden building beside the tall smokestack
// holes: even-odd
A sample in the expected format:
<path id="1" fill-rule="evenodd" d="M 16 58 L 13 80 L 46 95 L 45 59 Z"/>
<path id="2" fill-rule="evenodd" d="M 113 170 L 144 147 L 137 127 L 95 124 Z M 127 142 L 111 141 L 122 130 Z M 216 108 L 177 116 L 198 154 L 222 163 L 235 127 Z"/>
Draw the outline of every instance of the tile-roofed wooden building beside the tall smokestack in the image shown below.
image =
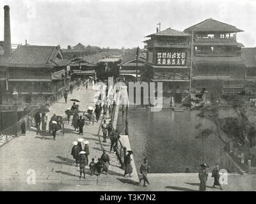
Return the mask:
<path id="1" fill-rule="evenodd" d="M 3 104 L 10 104 L 12 91 L 19 93 L 19 101 L 42 103 L 51 95 L 60 91 L 68 80 L 60 47 L 20 46 L 13 52 L 4 69 L 6 77 L 2 98 Z"/>

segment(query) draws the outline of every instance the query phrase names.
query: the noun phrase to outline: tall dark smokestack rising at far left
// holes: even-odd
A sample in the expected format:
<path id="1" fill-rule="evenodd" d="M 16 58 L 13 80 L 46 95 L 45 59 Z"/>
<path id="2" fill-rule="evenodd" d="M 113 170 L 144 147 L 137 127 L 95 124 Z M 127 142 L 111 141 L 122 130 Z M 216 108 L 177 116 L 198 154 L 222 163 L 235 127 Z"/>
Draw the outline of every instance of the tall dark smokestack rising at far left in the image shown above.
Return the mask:
<path id="1" fill-rule="evenodd" d="M 4 6 L 4 55 L 10 57 L 12 53 L 11 28 L 10 28 L 10 7 Z"/>

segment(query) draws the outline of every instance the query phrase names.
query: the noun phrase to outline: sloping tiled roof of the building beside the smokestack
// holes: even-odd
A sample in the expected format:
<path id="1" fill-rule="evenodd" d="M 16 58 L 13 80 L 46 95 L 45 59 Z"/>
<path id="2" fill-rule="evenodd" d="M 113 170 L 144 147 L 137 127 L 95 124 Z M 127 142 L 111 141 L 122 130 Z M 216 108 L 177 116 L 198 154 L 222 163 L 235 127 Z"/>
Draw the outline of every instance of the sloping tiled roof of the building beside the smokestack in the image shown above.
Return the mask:
<path id="1" fill-rule="evenodd" d="M 60 47 L 23 45 L 13 52 L 10 66 L 56 66 L 54 61 Z"/>

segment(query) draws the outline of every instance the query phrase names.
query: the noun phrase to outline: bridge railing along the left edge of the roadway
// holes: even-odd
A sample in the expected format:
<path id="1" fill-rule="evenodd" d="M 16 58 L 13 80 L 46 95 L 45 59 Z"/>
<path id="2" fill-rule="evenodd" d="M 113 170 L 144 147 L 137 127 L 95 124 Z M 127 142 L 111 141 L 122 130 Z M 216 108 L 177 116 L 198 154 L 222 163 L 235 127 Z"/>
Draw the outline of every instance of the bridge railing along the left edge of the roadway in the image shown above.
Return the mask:
<path id="1" fill-rule="evenodd" d="M 63 87 L 60 91 L 58 91 L 53 96 L 49 97 L 44 105 L 52 106 L 54 103 L 56 103 L 60 98 L 63 97 L 65 91 L 65 87 Z M 0 147 L 4 144 L 10 142 L 13 138 L 19 136 L 20 133 L 20 124 L 22 120 L 26 120 L 26 129 L 31 128 L 33 124 L 34 115 L 36 113 L 36 110 L 39 108 L 39 106 L 36 106 L 31 110 L 29 113 L 24 115 L 22 119 L 20 119 L 18 122 L 13 124 L 7 129 L 4 129 L 0 133 Z"/>

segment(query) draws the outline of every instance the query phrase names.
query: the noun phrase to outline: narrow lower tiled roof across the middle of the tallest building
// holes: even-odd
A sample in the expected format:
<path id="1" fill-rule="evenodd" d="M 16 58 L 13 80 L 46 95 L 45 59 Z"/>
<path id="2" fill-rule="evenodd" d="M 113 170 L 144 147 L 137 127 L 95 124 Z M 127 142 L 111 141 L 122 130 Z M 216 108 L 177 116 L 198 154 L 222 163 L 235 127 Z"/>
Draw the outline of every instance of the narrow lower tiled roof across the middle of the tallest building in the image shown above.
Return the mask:
<path id="1" fill-rule="evenodd" d="M 193 62 L 244 62 L 242 56 L 236 57 L 193 57 Z"/>

